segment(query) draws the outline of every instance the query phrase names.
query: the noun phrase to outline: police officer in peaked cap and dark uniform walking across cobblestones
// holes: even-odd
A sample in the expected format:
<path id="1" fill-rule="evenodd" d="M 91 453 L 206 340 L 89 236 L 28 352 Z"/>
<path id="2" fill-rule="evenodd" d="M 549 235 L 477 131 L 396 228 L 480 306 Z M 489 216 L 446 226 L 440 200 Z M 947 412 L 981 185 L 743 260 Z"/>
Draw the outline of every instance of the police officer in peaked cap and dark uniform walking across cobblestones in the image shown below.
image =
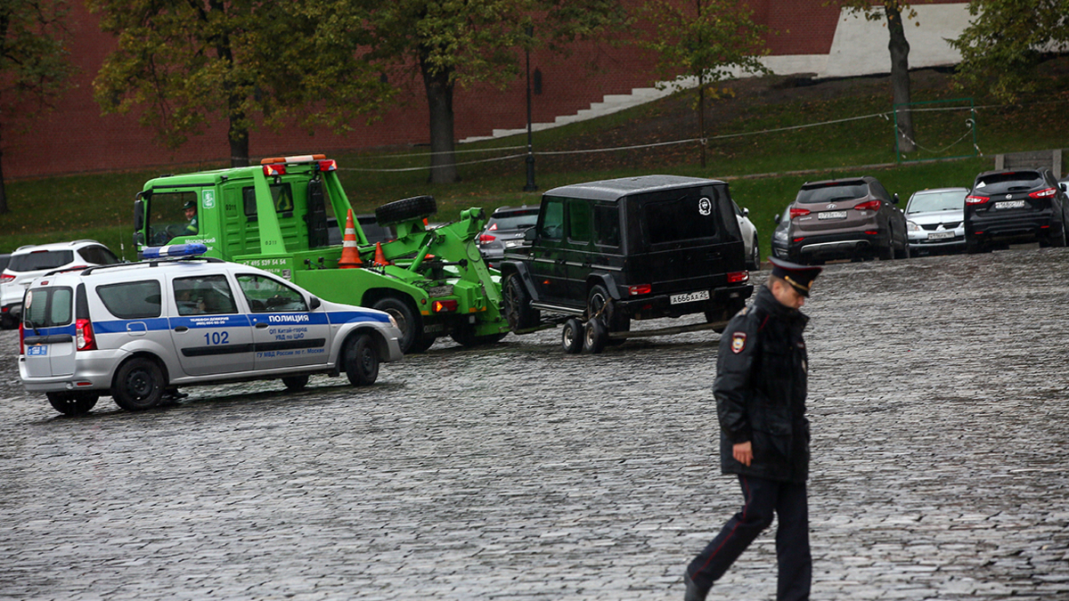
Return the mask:
<path id="1" fill-rule="evenodd" d="M 713 384 L 721 471 L 738 475 L 743 507 L 687 566 L 686 601 L 706 599 L 713 583 L 769 527 L 773 513 L 779 519 L 776 599 L 809 598 L 809 421 L 802 339 L 809 318 L 799 309 L 821 267 L 771 261 L 765 286 L 724 330 Z"/>

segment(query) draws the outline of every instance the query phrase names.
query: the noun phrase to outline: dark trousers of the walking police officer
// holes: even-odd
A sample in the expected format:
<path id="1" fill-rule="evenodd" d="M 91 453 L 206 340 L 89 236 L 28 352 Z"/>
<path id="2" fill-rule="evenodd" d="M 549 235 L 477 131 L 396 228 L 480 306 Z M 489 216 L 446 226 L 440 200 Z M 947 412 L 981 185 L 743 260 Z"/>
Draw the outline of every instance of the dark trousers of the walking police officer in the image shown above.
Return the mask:
<path id="1" fill-rule="evenodd" d="M 744 505 L 721 534 L 687 567 L 691 580 L 708 590 L 757 535 L 772 524 L 775 513 L 776 560 L 779 566 L 776 599 L 796 601 L 809 598 L 812 556 L 809 554 L 809 510 L 804 482 L 780 482 L 739 476 Z"/>

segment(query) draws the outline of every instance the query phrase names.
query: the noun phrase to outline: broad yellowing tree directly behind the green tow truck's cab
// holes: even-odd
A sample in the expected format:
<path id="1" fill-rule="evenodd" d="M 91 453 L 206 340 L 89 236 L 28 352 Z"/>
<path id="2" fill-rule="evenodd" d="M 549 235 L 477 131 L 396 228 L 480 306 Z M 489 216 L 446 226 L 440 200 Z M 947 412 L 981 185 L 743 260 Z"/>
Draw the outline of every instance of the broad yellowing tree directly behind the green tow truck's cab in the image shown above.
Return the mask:
<path id="1" fill-rule="evenodd" d="M 331 37 L 321 6 L 272 0 L 88 0 L 118 48 L 93 81 L 105 113 L 140 110 L 168 148 L 228 122 L 231 165 L 249 132 L 289 119 L 344 128 L 388 99 L 359 34 Z M 348 14 L 346 19 L 354 18 Z"/>

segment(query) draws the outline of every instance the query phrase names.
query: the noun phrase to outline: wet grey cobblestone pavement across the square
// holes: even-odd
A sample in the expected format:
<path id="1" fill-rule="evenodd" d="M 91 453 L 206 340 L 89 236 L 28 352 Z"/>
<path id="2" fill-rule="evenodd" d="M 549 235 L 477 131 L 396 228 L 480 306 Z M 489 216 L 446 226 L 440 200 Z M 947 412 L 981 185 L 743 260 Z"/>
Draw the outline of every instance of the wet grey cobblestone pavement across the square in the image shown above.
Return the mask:
<path id="1" fill-rule="evenodd" d="M 827 267 L 815 599 L 1069 599 L 1067 274 L 1069 249 Z M 0 333 L 0 599 L 680 599 L 740 504 L 717 336 L 558 335 L 63 418 Z M 773 546 L 710 599 L 772 599 Z"/>

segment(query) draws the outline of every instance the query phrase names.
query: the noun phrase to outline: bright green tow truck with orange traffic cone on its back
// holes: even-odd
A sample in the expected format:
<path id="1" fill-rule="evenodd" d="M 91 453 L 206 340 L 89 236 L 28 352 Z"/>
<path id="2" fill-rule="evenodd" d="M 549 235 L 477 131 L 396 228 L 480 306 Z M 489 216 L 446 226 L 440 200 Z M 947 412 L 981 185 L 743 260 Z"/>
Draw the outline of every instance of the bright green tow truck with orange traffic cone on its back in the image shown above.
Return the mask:
<path id="1" fill-rule="evenodd" d="M 207 257 L 266 269 L 327 300 L 387 311 L 404 334 L 405 353 L 423 352 L 440 336 L 470 346 L 508 334 L 498 274 L 475 244 L 486 220 L 482 209 L 431 228 L 427 218 L 437 210 L 432 197 L 384 204 L 375 218 L 396 237 L 372 244 L 354 219 L 356 248 L 343 263 L 359 266 L 342 268 L 344 244 L 337 234 L 352 206 L 337 169 L 324 155 L 305 155 L 160 175 L 135 200 L 134 244 L 140 251 L 201 243 Z"/>

